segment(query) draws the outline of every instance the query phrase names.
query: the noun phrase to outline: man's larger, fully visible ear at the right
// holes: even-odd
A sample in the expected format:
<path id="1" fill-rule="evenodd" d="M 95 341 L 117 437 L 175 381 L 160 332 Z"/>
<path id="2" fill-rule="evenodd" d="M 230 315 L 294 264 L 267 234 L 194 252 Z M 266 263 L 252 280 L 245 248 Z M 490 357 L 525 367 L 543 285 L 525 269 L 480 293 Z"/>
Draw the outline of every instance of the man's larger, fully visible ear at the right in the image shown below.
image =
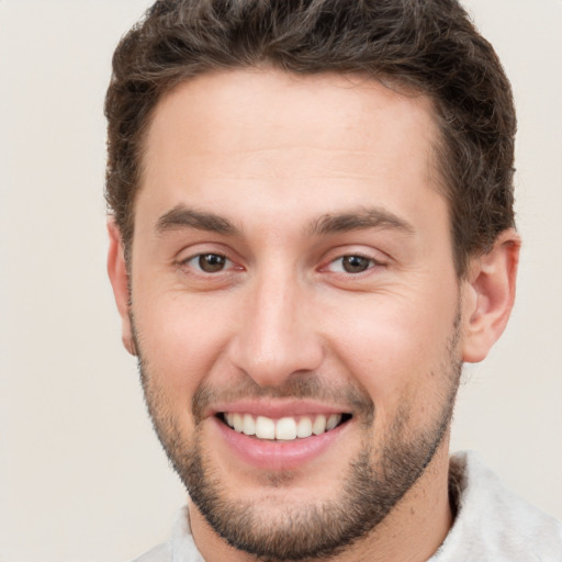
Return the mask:
<path id="1" fill-rule="evenodd" d="M 482 361 L 503 334 L 515 301 L 521 240 L 509 228 L 488 252 L 475 257 L 465 282 L 463 361 Z"/>

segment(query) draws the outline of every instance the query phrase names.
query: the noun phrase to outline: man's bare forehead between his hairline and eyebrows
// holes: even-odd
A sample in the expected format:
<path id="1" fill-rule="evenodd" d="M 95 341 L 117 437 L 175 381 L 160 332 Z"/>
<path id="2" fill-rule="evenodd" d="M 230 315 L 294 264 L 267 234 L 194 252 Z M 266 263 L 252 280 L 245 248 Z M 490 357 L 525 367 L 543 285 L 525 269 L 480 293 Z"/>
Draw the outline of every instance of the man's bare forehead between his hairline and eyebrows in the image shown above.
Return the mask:
<path id="1" fill-rule="evenodd" d="M 284 209 L 295 221 L 295 196 L 311 213 L 380 201 L 415 212 L 437 194 L 437 138 L 428 98 L 363 77 L 207 74 L 156 106 L 138 200 L 161 212 L 254 202 L 263 217 Z"/>

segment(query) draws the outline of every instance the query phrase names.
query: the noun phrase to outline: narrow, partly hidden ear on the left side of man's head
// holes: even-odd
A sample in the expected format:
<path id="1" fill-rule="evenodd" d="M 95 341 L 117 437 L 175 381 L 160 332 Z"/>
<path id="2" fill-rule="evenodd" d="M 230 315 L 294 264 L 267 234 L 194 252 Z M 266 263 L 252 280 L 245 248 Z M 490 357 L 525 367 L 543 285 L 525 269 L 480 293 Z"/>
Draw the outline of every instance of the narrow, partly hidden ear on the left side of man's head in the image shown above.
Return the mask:
<path id="1" fill-rule="evenodd" d="M 115 296 L 117 311 L 121 315 L 122 339 L 125 349 L 136 356 L 135 341 L 133 338 L 133 328 L 130 317 L 130 283 L 127 267 L 125 263 L 125 249 L 121 238 L 121 232 L 113 218 L 108 221 L 108 233 L 110 235 L 110 248 L 108 251 L 108 274 Z"/>

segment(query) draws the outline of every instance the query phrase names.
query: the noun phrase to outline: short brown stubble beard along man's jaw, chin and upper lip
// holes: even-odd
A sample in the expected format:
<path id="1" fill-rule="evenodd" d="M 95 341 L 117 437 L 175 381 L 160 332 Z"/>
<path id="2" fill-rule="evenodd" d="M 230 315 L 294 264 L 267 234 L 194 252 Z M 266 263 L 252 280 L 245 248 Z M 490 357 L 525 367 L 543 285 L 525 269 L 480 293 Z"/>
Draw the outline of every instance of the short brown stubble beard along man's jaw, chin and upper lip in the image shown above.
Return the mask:
<path id="1" fill-rule="evenodd" d="M 441 409 L 432 423 L 412 435 L 409 412 L 403 407 L 386 431 L 384 442 L 374 448 L 369 439 L 373 431 L 374 405 L 363 391 L 347 389 L 348 397 L 353 402 L 355 423 L 361 427 L 364 438 L 361 450 L 349 462 L 341 479 L 339 496 L 307 505 L 280 506 L 278 501 L 274 513 L 267 513 L 262 505 L 268 499 L 267 487 L 261 504 L 244 497 L 232 498 L 223 475 L 213 468 L 205 452 L 199 415 L 203 409 L 202 403 L 214 398 L 213 392 L 202 386 L 195 393 L 192 401 L 195 430 L 193 436 L 182 435 L 178 420 L 166 405 L 162 389 L 151 384 L 154 379 L 149 367 L 140 352 L 138 338 L 135 339 L 140 380 L 155 431 L 191 501 L 215 532 L 228 544 L 265 561 L 327 560 L 369 535 L 384 520 L 422 476 L 442 443 L 450 426 L 462 371 L 457 350 L 459 324 L 458 316 L 441 372 L 431 373 L 432 376 L 445 378 L 448 384 L 442 394 Z M 249 384 L 245 386 L 247 389 Z M 290 381 L 283 389 L 259 389 L 255 385 L 251 394 L 240 392 L 245 392 L 246 397 L 292 396 L 295 400 L 329 395 L 329 391 L 322 389 L 314 376 Z M 340 392 L 338 390 L 336 395 L 341 396 Z M 221 397 L 224 396 L 222 392 Z M 263 484 L 270 488 L 290 486 L 291 480 L 291 474 L 270 474 Z"/>

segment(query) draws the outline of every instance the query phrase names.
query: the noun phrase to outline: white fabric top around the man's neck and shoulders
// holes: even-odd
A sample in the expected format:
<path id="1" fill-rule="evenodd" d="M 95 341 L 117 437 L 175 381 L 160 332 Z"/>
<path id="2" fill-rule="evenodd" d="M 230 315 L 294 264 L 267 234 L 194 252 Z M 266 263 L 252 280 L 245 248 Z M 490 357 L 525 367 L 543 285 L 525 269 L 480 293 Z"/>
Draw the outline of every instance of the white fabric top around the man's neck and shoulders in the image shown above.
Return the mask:
<path id="1" fill-rule="evenodd" d="M 449 484 L 457 517 L 428 562 L 562 562 L 562 524 L 507 491 L 476 453 L 451 457 Z M 187 507 L 170 539 L 135 562 L 204 562 Z"/>

